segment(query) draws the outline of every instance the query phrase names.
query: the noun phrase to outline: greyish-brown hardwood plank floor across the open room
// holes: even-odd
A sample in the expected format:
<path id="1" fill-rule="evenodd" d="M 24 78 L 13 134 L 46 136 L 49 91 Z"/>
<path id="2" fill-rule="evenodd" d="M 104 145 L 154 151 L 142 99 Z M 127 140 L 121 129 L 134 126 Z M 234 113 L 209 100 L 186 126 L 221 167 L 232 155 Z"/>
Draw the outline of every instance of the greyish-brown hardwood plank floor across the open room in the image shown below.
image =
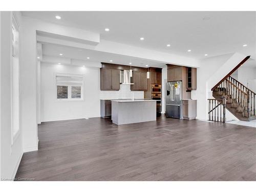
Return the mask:
<path id="1" fill-rule="evenodd" d="M 256 180 L 256 129 L 165 118 L 115 125 L 91 118 L 45 122 L 39 149 L 16 178 L 35 180 Z"/>

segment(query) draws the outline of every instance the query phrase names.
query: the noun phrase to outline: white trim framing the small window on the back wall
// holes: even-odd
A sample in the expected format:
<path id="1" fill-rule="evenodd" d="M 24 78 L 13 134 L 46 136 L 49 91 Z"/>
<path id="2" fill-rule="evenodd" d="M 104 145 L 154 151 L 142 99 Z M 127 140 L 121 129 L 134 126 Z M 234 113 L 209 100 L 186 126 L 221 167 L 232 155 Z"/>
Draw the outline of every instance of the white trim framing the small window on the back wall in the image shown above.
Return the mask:
<path id="1" fill-rule="evenodd" d="M 72 73 L 54 73 L 54 98 L 55 98 L 55 102 L 83 102 L 84 101 L 84 74 L 72 74 Z M 57 98 L 57 83 L 56 83 L 56 76 L 68 76 L 68 77 L 81 77 L 82 76 L 82 85 L 81 85 L 81 98 L 68 98 L 68 99 L 58 99 Z M 61 86 L 65 86 L 65 85 L 61 85 Z M 67 85 L 68 87 L 70 85 Z M 70 86 L 71 87 L 71 86 Z M 68 89 L 68 95 L 71 93 L 69 93 L 70 89 Z"/>

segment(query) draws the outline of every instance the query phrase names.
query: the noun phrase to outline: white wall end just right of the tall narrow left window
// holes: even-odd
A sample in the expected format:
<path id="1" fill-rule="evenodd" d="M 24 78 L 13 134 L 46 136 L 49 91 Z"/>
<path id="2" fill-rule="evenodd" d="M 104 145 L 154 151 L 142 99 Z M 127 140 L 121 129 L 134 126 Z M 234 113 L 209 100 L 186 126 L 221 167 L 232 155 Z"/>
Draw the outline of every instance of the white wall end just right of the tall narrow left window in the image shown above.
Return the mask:
<path id="1" fill-rule="evenodd" d="M 20 52 L 20 114 L 23 129 L 24 152 L 38 149 L 37 137 L 37 53 L 36 26 L 31 25 L 30 19 L 23 19 L 22 50 Z"/>

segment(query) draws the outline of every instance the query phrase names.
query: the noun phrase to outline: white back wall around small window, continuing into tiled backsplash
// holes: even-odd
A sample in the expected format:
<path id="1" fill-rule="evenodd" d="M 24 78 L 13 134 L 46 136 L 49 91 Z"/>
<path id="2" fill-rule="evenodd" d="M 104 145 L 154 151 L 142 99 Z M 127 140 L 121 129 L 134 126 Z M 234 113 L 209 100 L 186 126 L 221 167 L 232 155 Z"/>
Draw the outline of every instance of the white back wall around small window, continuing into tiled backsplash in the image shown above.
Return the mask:
<path id="1" fill-rule="evenodd" d="M 83 63 L 87 66 L 87 63 Z M 89 63 L 90 64 L 90 63 Z M 84 100 L 57 101 L 55 73 L 83 74 Z M 100 69 L 41 63 L 41 119 L 55 121 L 100 117 L 100 99 L 132 98 L 130 85 L 120 85 L 119 91 L 100 91 Z M 135 98 L 144 98 L 143 91 L 134 92 Z"/>

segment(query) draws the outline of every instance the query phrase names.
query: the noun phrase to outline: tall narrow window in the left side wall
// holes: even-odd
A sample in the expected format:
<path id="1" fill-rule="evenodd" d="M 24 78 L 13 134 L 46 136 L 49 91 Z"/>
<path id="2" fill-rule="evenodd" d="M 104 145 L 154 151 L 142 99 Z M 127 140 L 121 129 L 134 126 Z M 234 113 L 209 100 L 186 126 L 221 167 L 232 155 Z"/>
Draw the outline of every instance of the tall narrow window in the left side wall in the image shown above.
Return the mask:
<path id="1" fill-rule="evenodd" d="M 13 14 L 12 18 L 12 65 L 11 65 L 11 99 L 12 99 L 12 142 L 19 131 L 19 25 Z"/>

